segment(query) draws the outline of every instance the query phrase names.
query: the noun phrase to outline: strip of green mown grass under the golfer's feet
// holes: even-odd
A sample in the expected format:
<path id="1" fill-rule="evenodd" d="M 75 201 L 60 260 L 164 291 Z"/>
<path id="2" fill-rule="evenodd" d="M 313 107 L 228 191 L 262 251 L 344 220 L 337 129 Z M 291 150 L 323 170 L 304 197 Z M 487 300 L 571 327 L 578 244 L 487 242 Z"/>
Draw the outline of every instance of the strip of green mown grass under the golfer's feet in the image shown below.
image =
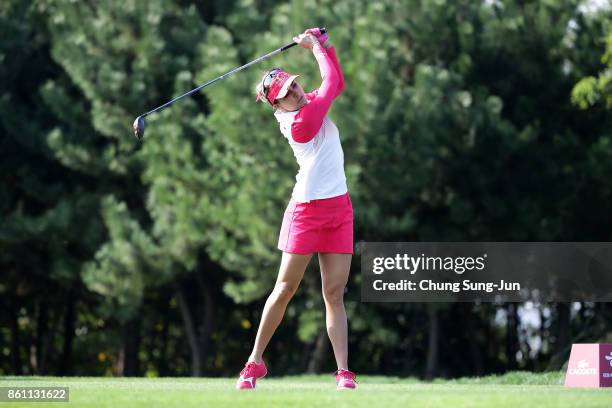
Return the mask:
<path id="1" fill-rule="evenodd" d="M 562 373 L 513 372 L 433 383 L 359 376 L 357 391 L 336 391 L 333 377 L 266 378 L 236 391 L 234 378 L 4 377 L 0 386 L 67 386 L 73 407 L 350 407 L 506 408 L 612 407 L 612 389 L 563 387 Z M 0 403 L 0 408 L 61 407 L 61 403 Z"/>

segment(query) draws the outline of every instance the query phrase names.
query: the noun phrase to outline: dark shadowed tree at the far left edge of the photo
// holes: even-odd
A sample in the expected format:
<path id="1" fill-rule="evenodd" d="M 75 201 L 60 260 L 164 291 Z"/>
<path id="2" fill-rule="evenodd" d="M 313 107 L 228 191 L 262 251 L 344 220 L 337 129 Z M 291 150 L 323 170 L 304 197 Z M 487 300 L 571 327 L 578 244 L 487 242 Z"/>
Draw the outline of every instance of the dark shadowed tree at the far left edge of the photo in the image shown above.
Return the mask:
<path id="1" fill-rule="evenodd" d="M 57 360 L 64 372 L 70 370 L 72 311 L 77 298 L 85 300 L 79 269 L 102 230 L 95 219 L 81 222 L 97 205 L 89 180 L 66 171 L 47 145 L 46 136 L 62 119 L 71 113 L 70 119 L 82 119 L 82 112 L 56 117 L 54 108 L 66 100 L 47 99 L 48 81 L 65 85 L 67 93 L 75 89 L 47 52 L 49 35 L 39 6 L 17 1 L 0 6 L 0 292 L 11 328 L 13 372 L 45 374 Z M 87 122 L 80 124 L 88 129 Z M 62 337 L 54 337 L 56 332 Z"/>

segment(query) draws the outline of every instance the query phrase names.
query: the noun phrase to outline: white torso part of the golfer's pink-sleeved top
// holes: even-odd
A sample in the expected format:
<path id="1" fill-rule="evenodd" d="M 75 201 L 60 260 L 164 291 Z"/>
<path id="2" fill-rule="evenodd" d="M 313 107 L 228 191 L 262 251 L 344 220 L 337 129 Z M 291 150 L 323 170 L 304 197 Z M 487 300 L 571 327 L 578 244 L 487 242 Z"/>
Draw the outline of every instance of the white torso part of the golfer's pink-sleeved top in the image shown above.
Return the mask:
<path id="1" fill-rule="evenodd" d="M 291 198 L 299 203 L 331 198 L 348 191 L 344 175 L 344 152 L 338 128 L 327 116 L 309 142 L 299 143 L 291 137 L 291 124 L 299 111 L 276 111 L 274 116 L 283 136 L 293 149 L 300 167 L 295 176 Z"/>

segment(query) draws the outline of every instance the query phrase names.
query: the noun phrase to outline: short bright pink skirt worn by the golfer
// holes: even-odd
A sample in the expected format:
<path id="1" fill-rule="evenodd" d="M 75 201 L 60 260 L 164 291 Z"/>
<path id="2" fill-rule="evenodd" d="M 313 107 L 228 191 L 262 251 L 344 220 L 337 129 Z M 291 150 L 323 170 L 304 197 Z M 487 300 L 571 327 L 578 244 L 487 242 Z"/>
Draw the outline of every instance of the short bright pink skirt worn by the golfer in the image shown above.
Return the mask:
<path id="1" fill-rule="evenodd" d="M 352 254 L 353 205 L 349 193 L 308 203 L 291 199 L 283 216 L 278 249 L 294 254 Z"/>

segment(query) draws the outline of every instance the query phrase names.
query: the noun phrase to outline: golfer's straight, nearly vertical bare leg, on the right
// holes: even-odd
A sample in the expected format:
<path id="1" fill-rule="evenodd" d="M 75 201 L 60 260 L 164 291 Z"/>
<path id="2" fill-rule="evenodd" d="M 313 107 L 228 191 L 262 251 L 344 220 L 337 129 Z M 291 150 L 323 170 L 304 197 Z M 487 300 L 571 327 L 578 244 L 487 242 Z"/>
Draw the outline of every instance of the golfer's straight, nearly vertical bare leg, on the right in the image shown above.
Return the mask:
<path id="1" fill-rule="evenodd" d="M 319 254 L 327 334 L 338 369 L 345 370 L 348 370 L 348 324 L 344 310 L 344 288 L 348 281 L 351 258 L 351 254 Z"/>

